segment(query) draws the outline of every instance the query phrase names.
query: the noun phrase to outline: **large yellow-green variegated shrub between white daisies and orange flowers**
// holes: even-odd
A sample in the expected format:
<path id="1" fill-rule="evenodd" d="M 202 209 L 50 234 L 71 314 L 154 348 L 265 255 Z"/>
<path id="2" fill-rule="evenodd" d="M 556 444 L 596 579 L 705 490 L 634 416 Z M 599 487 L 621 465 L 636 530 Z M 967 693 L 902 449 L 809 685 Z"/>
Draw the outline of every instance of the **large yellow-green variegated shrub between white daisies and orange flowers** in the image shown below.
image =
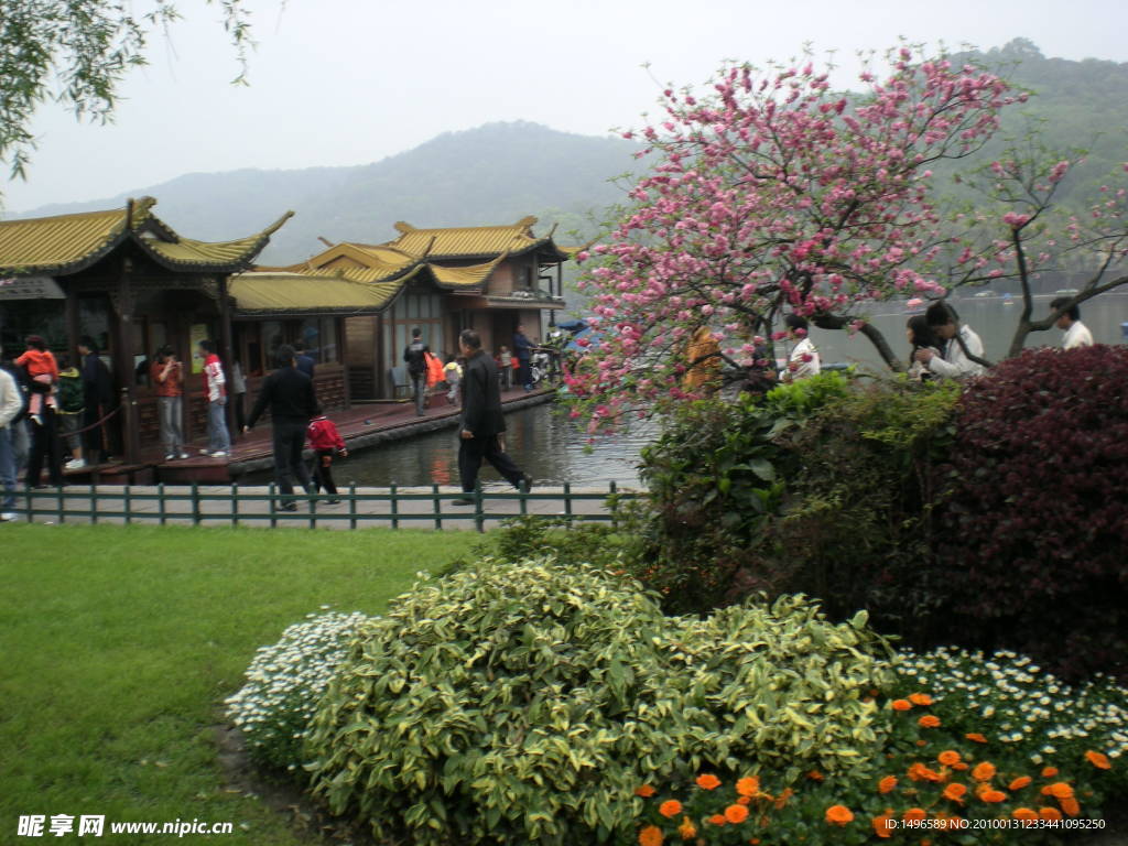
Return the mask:
<path id="1" fill-rule="evenodd" d="M 617 841 L 643 782 L 864 766 L 888 647 L 801 597 L 666 617 L 552 558 L 424 578 L 364 624 L 315 715 L 315 792 L 413 843 Z"/>

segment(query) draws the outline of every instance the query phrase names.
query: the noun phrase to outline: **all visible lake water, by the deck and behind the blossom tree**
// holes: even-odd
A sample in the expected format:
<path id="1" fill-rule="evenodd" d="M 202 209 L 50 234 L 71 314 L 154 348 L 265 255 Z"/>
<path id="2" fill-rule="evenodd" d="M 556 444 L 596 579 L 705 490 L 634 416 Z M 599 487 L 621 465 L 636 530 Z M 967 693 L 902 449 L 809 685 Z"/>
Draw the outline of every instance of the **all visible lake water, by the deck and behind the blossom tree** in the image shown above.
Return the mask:
<path id="1" fill-rule="evenodd" d="M 1036 298 L 1037 314 L 1049 310 L 1052 297 Z M 884 314 L 872 316 L 890 345 L 902 360 L 908 358 L 905 340 L 908 316 L 904 308 L 887 306 Z M 1004 306 L 1002 298 L 966 299 L 957 310 L 984 340 L 987 358 L 997 361 L 1011 344 L 1017 323 L 1019 306 Z M 1098 343 L 1123 343 L 1120 324 L 1128 321 L 1128 294 L 1104 294 L 1082 307 L 1082 320 Z M 823 362 L 854 362 L 879 372 L 889 372 L 873 345 L 862 335 L 851 337 L 845 332 L 812 331 Z M 1058 346 L 1061 332 L 1050 329 L 1031 335 L 1028 345 Z M 784 351 L 781 350 L 781 354 Z M 541 485 L 606 487 L 611 481 L 623 486 L 638 485 L 638 453 L 655 432 L 653 424 L 640 425 L 626 433 L 597 440 L 588 446 L 587 433 L 570 421 L 557 406 L 546 404 L 505 415 L 509 426 L 506 444 L 510 453 L 526 473 Z M 262 475 L 268 481 L 270 474 Z M 386 487 L 398 485 L 457 485 L 458 441 L 453 429 L 423 434 L 382 447 L 362 450 L 334 466 L 338 485 Z M 486 487 L 504 487 L 492 467 L 483 467 Z"/>

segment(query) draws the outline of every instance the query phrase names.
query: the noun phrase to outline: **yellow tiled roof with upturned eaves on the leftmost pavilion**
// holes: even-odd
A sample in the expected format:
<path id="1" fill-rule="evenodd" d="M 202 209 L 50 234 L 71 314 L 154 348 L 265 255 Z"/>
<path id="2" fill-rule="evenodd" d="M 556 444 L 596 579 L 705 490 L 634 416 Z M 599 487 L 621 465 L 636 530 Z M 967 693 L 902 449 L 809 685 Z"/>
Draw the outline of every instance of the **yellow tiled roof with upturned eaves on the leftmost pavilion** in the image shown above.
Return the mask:
<path id="1" fill-rule="evenodd" d="M 230 272 L 245 267 L 293 212 L 262 232 L 232 241 L 182 238 L 152 214 L 157 201 L 141 197 L 126 209 L 0 221 L 0 270 L 6 273 L 74 273 L 127 239 L 170 270 Z"/>

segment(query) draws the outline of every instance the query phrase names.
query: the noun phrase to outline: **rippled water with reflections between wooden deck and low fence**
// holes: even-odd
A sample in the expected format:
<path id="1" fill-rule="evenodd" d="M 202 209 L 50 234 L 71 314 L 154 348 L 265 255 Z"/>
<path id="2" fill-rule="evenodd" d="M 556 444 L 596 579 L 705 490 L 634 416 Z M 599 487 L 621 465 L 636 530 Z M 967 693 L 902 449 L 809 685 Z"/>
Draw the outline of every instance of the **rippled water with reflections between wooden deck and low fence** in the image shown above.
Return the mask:
<path id="1" fill-rule="evenodd" d="M 653 439 L 652 426 L 638 425 L 628 433 L 599 439 L 589 451 L 587 433 L 552 404 L 506 414 L 505 424 L 505 443 L 513 459 L 543 485 L 567 482 L 606 487 L 614 481 L 637 486 L 638 451 Z M 431 432 L 362 450 L 335 464 L 333 474 L 338 484 L 346 485 L 458 484 L 456 431 Z M 481 478 L 484 487 L 505 487 L 488 465 L 482 468 Z"/>

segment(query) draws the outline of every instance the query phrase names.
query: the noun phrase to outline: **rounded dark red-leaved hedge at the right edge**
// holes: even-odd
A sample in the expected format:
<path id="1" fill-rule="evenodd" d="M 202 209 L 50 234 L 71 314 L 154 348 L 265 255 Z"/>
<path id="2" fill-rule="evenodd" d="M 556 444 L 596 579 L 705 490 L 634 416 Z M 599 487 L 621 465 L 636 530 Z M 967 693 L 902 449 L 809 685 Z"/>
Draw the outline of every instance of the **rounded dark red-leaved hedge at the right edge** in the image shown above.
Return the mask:
<path id="1" fill-rule="evenodd" d="M 970 386 L 938 550 L 985 645 L 1128 676 L 1128 346 L 1029 350 Z"/>

